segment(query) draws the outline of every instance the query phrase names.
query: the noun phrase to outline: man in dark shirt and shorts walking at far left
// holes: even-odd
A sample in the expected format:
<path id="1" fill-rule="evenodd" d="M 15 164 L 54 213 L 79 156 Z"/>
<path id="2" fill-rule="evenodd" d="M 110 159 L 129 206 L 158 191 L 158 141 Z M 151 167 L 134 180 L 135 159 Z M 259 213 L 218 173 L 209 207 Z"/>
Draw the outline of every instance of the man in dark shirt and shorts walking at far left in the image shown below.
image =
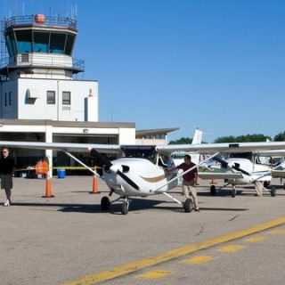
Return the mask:
<path id="1" fill-rule="evenodd" d="M 12 175 L 15 171 L 15 162 L 9 156 L 9 150 L 4 148 L 2 150 L 2 157 L 0 159 L 0 175 L 1 175 L 1 189 L 5 190 L 6 201 L 4 206 L 11 205 L 11 190 L 12 190 Z"/>

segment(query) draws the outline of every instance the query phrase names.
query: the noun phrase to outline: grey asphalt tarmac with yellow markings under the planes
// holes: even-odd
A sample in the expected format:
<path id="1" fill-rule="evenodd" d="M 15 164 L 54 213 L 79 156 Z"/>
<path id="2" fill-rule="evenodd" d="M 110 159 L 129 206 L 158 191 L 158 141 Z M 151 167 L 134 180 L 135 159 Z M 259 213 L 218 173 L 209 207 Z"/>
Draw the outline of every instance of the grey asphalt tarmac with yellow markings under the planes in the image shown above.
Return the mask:
<path id="1" fill-rule="evenodd" d="M 256 197 L 247 187 L 209 194 L 185 213 L 165 195 L 102 212 L 108 194 L 93 176 L 14 178 L 12 207 L 0 206 L 0 284 L 281 284 L 285 273 L 285 191 Z M 171 191 L 183 200 L 181 188 Z M 115 198 L 115 196 L 114 196 Z M 4 201 L 4 192 L 0 199 Z"/>

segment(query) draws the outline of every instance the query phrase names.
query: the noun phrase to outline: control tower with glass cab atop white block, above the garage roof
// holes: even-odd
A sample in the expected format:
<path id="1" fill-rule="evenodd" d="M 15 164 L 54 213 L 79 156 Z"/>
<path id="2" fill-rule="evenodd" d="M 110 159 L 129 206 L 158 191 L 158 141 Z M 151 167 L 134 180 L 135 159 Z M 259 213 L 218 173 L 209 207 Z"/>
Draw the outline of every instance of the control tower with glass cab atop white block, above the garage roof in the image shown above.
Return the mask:
<path id="1" fill-rule="evenodd" d="M 0 118 L 98 121 L 98 82 L 76 79 L 77 20 L 13 16 L 1 32 Z"/>

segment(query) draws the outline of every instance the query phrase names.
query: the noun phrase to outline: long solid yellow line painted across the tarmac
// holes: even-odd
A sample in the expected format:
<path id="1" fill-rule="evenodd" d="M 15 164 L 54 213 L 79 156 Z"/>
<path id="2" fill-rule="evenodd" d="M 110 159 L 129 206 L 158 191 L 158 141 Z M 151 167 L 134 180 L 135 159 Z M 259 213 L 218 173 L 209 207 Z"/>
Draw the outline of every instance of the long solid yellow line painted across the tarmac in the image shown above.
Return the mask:
<path id="1" fill-rule="evenodd" d="M 161 253 L 157 256 L 145 257 L 125 265 L 119 265 L 117 267 L 111 268 L 110 270 L 105 270 L 99 273 L 92 273 L 74 281 L 67 281 L 62 285 L 92 285 L 102 281 L 108 281 L 119 276 L 134 273 L 151 265 L 159 265 L 163 262 L 175 259 L 177 257 L 197 252 L 200 249 L 210 248 L 227 241 L 237 240 L 248 236 L 249 234 L 265 231 L 281 224 L 285 224 L 285 217 L 281 217 L 277 220 L 273 220 L 264 224 L 257 224 L 256 226 L 253 226 L 246 230 L 231 232 L 213 239 L 190 244 L 182 248 L 175 248 L 167 252 Z"/>

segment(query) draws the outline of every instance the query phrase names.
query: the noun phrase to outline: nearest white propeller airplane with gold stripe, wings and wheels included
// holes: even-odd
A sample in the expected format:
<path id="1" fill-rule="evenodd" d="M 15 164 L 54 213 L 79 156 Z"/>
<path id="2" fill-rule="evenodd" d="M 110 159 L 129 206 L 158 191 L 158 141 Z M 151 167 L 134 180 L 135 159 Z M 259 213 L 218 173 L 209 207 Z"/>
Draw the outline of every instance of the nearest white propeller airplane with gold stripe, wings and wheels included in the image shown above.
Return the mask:
<path id="1" fill-rule="evenodd" d="M 85 166 L 85 164 L 69 153 L 69 151 L 91 151 L 91 155 L 101 160 L 104 165 L 102 168 L 102 176 L 98 175 L 90 167 L 85 167 L 92 171 L 94 175 L 100 176 L 107 183 L 110 188 L 110 195 L 115 192 L 118 194 L 118 199 L 123 199 L 121 213 L 126 215 L 129 208 L 129 199 L 131 197 L 146 197 L 161 193 L 173 199 L 178 204 L 183 205 L 185 212 L 191 212 L 191 199 L 185 199 L 185 201 L 182 202 L 167 193 L 167 191 L 177 186 L 177 181 L 180 177 L 180 175 L 177 175 L 177 170 L 170 156 L 174 151 L 208 153 L 212 154 L 208 159 L 212 159 L 221 153 L 284 150 L 285 142 L 208 143 L 158 146 L 60 142 L 0 142 L 0 146 L 64 151 L 83 166 Z M 110 161 L 106 159 L 102 153 L 117 153 L 119 159 Z M 203 160 L 197 164 L 196 167 L 199 167 L 200 164 L 205 163 L 208 159 Z M 191 171 L 191 169 L 188 171 Z M 102 197 L 102 210 L 108 210 L 112 202 L 109 197 Z"/>

